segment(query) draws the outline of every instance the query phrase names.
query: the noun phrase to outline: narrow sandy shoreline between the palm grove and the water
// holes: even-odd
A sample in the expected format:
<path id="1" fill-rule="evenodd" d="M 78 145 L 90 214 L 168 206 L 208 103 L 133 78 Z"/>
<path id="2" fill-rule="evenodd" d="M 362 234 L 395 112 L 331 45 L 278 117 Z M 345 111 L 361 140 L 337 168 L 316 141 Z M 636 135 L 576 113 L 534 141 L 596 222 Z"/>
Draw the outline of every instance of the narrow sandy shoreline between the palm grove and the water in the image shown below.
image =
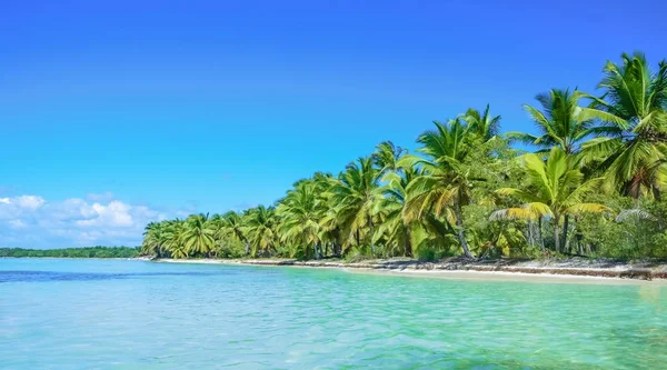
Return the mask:
<path id="1" fill-rule="evenodd" d="M 420 262 L 409 259 L 344 262 L 290 259 L 158 259 L 155 262 L 236 264 L 265 267 L 301 267 L 339 269 L 349 272 L 391 276 L 449 278 L 485 281 L 587 282 L 587 283 L 657 283 L 667 284 L 667 264 L 613 263 L 600 261 L 465 261 L 448 259 Z M 588 266 L 584 266 L 584 264 Z"/>

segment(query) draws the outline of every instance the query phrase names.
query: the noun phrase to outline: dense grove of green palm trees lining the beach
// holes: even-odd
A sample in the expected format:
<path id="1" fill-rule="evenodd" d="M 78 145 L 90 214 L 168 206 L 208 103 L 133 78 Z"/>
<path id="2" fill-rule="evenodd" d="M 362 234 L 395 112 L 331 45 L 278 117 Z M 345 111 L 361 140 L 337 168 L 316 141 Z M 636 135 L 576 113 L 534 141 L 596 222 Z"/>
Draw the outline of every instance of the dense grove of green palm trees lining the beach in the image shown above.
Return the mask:
<path id="1" fill-rule="evenodd" d="M 537 134 L 500 132 L 487 106 L 387 141 L 275 204 L 146 227 L 158 257 L 667 257 L 667 63 L 608 61 L 597 93 L 524 106 Z M 522 142 L 534 152 L 517 150 Z"/>

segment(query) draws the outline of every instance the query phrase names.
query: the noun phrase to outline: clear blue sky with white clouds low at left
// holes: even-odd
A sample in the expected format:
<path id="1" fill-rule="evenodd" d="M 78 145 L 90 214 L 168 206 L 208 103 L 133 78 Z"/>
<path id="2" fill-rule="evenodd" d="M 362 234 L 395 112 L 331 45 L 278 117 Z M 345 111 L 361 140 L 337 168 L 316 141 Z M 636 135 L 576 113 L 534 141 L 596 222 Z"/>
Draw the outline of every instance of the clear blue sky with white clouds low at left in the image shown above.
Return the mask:
<path id="1" fill-rule="evenodd" d="M 270 204 L 490 103 L 504 131 L 606 60 L 667 57 L 663 1 L 8 1 L 0 247 L 137 246 Z"/>

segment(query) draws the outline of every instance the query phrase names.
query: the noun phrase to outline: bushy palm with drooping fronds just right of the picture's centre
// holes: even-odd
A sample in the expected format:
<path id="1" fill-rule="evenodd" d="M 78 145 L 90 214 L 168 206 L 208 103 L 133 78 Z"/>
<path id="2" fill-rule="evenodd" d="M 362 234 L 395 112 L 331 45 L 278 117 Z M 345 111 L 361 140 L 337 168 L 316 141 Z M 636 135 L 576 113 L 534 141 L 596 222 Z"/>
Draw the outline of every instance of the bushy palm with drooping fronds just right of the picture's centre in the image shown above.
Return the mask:
<path id="1" fill-rule="evenodd" d="M 341 226 L 345 247 L 368 240 L 374 253 L 374 209 L 381 199 L 380 171 L 371 157 L 359 158 L 347 166 L 329 189 L 329 203 L 335 208 L 336 222 Z"/>

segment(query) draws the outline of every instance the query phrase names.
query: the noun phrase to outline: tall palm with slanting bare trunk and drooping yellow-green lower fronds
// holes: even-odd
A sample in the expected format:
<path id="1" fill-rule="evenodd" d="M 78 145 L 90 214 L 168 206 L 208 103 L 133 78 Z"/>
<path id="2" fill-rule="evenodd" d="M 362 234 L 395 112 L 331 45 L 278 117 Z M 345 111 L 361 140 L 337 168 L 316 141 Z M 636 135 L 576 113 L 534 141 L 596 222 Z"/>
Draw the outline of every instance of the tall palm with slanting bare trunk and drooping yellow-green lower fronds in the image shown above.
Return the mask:
<path id="1" fill-rule="evenodd" d="M 478 180 L 471 177 L 469 163 L 476 136 L 460 119 L 434 123 L 435 131 L 426 131 L 417 139 L 421 143 L 418 151 L 426 158 L 406 156 L 401 161 L 402 167 L 417 166 L 424 170 L 406 189 L 404 217 L 411 222 L 432 211 L 436 217 L 454 219 L 464 254 L 472 258 L 464 230 L 462 206 L 470 202 L 472 182 Z"/>

